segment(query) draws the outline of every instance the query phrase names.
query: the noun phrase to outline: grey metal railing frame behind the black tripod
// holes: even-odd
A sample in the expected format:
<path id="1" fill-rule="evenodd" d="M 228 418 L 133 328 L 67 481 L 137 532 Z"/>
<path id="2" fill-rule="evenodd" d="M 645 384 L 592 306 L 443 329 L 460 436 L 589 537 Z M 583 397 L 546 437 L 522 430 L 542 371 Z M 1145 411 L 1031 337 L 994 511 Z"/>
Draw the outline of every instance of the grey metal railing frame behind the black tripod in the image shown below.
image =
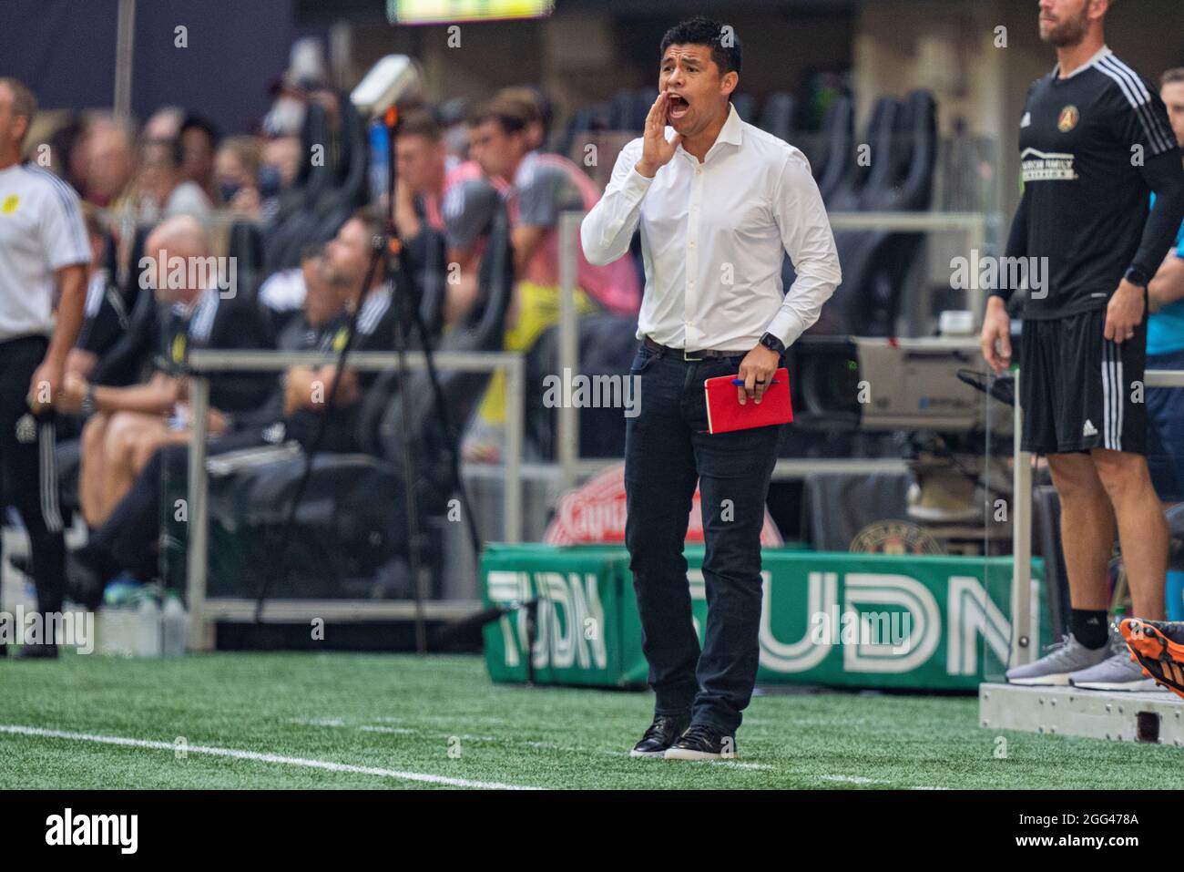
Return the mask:
<path id="1" fill-rule="evenodd" d="M 522 538 L 522 438 L 526 416 L 526 363 L 519 352 L 449 352 L 433 355 L 439 370 L 464 372 L 506 372 L 506 453 L 502 462 L 504 490 L 502 494 L 503 539 L 520 541 Z M 275 351 L 213 351 L 195 348 L 189 353 L 189 408 L 193 429 L 189 435 L 188 481 L 188 583 L 189 647 L 195 650 L 213 648 L 214 621 L 250 620 L 255 603 L 243 598 L 211 600 L 206 596 L 206 570 L 208 558 L 208 480 L 206 469 L 206 417 L 210 411 L 211 372 L 279 372 L 289 366 L 318 366 L 333 364 L 335 354 L 323 352 L 275 352 Z M 426 366 L 424 353 L 408 351 L 407 367 L 422 370 Z M 398 363 L 395 352 L 355 352 L 349 355 L 349 368 L 367 372 L 393 368 Z M 204 374 L 205 373 L 205 374 Z M 463 422 L 457 422 L 458 427 Z M 477 608 L 468 601 L 429 602 L 424 604 L 429 618 L 457 617 Z M 414 603 L 393 600 L 269 600 L 264 613 L 270 621 L 308 621 L 314 617 L 337 620 L 391 620 L 413 614 Z"/>

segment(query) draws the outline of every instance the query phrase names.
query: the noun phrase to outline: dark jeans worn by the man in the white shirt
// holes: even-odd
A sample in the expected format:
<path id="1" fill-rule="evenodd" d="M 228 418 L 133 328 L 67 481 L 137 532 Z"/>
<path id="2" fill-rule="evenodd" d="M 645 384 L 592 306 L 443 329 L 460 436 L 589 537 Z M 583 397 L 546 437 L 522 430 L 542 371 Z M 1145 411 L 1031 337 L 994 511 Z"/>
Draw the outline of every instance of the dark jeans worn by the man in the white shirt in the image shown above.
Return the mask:
<path id="1" fill-rule="evenodd" d="M 725 733 L 740 726 L 757 681 L 760 530 L 781 432 L 707 432 L 703 380 L 735 374 L 741 360 L 688 361 L 642 346 L 630 370 L 638 415 L 625 419 L 625 546 L 655 712 L 689 711 Z M 683 556 L 696 481 L 707 545 L 702 652 Z"/>

